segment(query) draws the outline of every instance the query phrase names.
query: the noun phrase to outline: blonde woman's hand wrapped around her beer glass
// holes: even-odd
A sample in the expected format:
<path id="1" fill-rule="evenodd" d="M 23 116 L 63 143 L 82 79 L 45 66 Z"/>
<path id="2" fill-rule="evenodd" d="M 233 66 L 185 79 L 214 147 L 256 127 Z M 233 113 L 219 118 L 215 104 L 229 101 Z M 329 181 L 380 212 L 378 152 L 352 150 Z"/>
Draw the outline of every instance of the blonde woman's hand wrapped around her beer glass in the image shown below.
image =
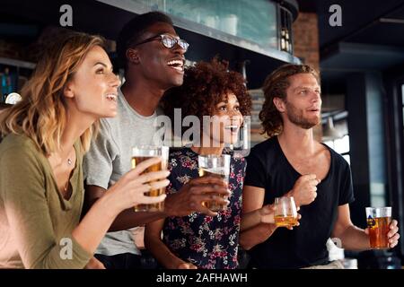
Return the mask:
<path id="1" fill-rule="evenodd" d="M 128 171 L 115 185 L 110 187 L 107 194 L 113 196 L 118 213 L 137 204 L 156 204 L 165 199 L 165 195 L 145 196 L 145 192 L 167 187 L 170 181 L 166 178 L 170 172 L 161 170 L 142 174 L 147 168 L 160 161 L 159 158 L 152 158 L 140 162 L 135 169 Z"/>

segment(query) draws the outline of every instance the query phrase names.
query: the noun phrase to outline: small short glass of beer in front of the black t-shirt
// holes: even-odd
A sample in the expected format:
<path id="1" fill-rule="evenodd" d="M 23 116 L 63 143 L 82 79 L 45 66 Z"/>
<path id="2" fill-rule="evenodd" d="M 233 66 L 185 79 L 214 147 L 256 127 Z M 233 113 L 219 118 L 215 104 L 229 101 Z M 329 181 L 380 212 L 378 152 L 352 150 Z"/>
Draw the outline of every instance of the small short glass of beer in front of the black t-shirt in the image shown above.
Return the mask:
<path id="1" fill-rule="evenodd" d="M 277 226 L 282 227 L 297 225 L 297 208 L 293 196 L 275 198 L 274 221 Z"/>

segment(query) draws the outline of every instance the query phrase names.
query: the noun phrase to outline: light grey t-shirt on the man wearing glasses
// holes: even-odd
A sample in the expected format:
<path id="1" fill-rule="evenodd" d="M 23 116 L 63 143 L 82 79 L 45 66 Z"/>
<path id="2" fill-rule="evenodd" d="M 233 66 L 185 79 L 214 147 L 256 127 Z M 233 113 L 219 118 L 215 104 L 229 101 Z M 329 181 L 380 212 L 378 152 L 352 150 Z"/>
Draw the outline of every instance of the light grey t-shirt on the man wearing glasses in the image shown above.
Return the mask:
<path id="1" fill-rule="evenodd" d="M 153 144 L 157 113 L 143 117 L 132 109 L 119 89 L 118 115 L 101 118 L 100 133 L 84 156 L 83 171 L 88 185 L 109 188 L 131 169 L 132 147 Z M 113 256 L 140 254 L 131 230 L 108 232 L 96 253 Z"/>

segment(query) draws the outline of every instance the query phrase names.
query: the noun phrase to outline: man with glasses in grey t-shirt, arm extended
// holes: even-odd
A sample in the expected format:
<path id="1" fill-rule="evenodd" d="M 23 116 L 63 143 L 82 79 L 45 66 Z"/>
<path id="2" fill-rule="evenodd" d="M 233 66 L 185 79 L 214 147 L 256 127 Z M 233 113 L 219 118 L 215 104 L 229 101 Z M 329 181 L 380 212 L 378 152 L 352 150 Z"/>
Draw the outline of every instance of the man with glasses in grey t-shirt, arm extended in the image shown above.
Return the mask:
<path id="1" fill-rule="evenodd" d="M 120 65 L 124 66 L 125 83 L 118 98 L 108 99 L 118 101 L 118 116 L 101 119 L 100 133 L 84 158 L 88 205 L 130 170 L 132 146 L 154 144 L 159 101 L 164 91 L 182 84 L 188 48 L 189 44 L 178 37 L 171 19 L 163 13 L 138 15 L 120 31 L 117 52 Z M 119 214 L 95 257 L 106 268 L 140 268 L 140 251 L 132 239 L 133 230 L 128 229 L 194 211 L 212 215 L 201 202 L 227 203 L 209 195 L 214 191 L 228 195 L 219 178 L 196 178 L 166 198 L 163 213 L 135 213 L 130 209 Z"/>

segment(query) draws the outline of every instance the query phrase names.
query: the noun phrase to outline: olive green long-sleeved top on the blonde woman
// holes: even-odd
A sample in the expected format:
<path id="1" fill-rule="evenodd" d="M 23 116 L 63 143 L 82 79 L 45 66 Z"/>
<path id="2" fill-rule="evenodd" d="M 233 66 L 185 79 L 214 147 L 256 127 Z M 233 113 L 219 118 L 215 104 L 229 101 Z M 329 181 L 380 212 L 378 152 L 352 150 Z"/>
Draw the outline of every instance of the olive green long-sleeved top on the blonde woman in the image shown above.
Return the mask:
<path id="1" fill-rule="evenodd" d="M 11 134 L 0 143 L 0 268 L 83 268 L 92 257 L 72 237 L 83 207 L 80 142 L 75 154 L 66 200 L 29 137 Z"/>

